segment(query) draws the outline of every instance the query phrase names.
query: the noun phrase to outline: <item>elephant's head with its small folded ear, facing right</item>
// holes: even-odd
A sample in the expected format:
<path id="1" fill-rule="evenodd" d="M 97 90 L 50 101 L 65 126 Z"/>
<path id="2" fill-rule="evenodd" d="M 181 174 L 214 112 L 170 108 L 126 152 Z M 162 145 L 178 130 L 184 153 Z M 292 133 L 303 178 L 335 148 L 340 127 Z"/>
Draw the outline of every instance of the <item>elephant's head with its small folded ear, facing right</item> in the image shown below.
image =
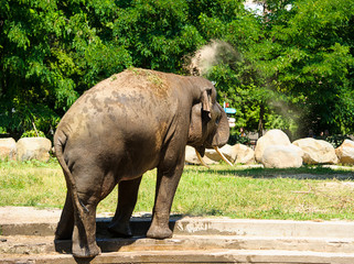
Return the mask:
<path id="1" fill-rule="evenodd" d="M 187 142 L 202 156 L 205 148 L 218 151 L 229 136 L 227 116 L 216 101 L 216 90 L 210 81 L 204 84 L 208 86 L 202 86 L 200 98 L 192 108 Z"/>

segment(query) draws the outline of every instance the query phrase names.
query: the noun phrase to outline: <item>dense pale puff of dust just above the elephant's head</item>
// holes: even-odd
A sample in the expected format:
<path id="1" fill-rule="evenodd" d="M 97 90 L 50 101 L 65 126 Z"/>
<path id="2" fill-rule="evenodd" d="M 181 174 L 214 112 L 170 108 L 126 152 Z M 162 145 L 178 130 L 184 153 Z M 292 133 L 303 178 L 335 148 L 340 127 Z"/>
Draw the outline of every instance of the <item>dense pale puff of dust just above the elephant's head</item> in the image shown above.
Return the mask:
<path id="1" fill-rule="evenodd" d="M 239 62 L 239 53 L 228 43 L 223 41 L 211 41 L 202 46 L 192 57 L 187 57 L 186 70 L 194 76 L 207 76 L 214 66 L 223 64 L 235 64 Z"/>

